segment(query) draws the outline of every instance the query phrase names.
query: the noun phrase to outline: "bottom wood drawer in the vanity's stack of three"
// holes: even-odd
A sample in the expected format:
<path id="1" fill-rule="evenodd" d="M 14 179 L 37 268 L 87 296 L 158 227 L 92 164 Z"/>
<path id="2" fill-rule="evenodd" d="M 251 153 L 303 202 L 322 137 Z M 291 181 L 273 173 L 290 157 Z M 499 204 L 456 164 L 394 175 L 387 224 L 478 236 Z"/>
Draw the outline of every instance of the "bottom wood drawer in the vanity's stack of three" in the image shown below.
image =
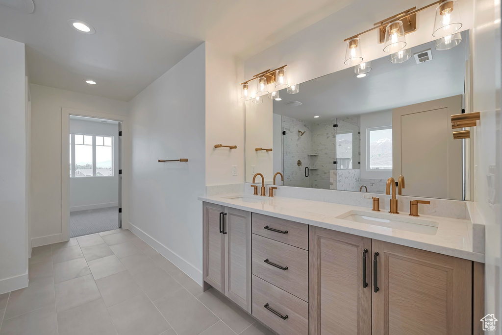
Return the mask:
<path id="1" fill-rule="evenodd" d="M 266 305 L 283 317 L 267 309 Z M 253 315 L 279 334 L 309 333 L 309 304 L 255 275 L 253 275 Z"/>

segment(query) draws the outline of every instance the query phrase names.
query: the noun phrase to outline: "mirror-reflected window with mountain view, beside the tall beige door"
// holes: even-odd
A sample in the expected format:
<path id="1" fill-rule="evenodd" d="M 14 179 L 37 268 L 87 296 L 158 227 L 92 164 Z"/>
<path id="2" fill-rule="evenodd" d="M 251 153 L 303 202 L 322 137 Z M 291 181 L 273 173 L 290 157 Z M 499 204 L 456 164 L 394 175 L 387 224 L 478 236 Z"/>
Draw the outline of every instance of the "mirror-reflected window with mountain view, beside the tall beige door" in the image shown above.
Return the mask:
<path id="1" fill-rule="evenodd" d="M 366 170 L 392 170 L 392 126 L 368 128 L 366 138 Z"/>

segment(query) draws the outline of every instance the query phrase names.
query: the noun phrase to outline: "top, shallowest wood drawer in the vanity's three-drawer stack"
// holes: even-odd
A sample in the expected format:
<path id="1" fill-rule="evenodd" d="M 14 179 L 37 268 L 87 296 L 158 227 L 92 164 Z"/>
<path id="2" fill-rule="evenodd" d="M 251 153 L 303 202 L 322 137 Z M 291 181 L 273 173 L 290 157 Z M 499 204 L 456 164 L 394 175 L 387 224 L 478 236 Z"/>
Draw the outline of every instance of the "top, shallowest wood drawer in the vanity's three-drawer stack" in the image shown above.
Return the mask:
<path id="1" fill-rule="evenodd" d="M 306 224 L 253 213 L 252 227 L 254 234 L 309 250 L 309 226 Z"/>

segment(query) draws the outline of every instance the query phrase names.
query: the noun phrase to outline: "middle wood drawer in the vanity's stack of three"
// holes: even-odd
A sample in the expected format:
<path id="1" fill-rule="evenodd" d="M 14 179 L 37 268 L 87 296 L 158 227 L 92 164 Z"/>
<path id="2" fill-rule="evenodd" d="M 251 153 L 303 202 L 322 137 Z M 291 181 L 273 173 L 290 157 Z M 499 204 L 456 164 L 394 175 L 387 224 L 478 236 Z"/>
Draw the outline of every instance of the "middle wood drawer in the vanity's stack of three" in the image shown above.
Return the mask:
<path id="1" fill-rule="evenodd" d="M 308 301 L 309 252 L 260 235 L 252 235 L 252 273 L 300 299 Z M 276 266 L 270 263 L 274 263 Z M 284 269 L 286 267 L 287 270 Z"/>

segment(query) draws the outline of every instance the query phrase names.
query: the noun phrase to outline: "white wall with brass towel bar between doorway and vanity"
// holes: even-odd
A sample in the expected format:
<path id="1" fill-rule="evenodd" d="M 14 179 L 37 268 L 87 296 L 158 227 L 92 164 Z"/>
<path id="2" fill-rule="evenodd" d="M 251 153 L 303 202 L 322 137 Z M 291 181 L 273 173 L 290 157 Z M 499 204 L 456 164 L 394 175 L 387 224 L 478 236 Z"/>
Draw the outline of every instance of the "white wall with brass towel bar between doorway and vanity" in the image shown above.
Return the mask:
<path id="1" fill-rule="evenodd" d="M 202 44 L 131 101 L 129 227 L 199 283 L 202 202 L 197 196 L 205 192 L 205 146 L 216 144 L 205 140 L 205 85 Z M 159 163 L 159 158 L 188 162 Z"/>

